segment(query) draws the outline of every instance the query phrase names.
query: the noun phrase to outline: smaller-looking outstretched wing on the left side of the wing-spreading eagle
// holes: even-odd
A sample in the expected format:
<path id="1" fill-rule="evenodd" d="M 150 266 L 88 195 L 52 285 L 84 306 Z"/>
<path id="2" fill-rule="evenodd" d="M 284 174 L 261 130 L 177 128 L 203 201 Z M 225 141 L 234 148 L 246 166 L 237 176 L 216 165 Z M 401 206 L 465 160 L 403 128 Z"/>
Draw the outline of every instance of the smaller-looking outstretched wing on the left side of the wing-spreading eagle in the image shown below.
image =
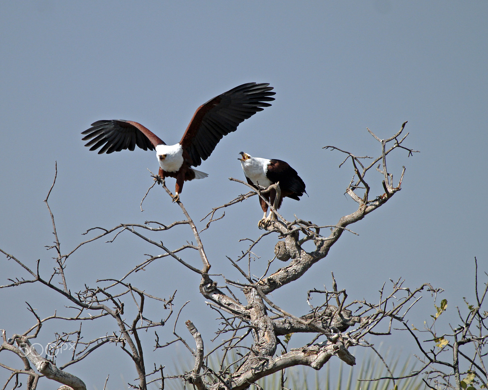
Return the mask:
<path id="1" fill-rule="evenodd" d="M 87 134 L 81 139 L 86 141 L 93 138 L 85 144 L 91 146 L 90 150 L 96 150 L 103 145 L 98 151 L 99 155 L 120 152 L 122 149 L 134 150 L 136 145 L 144 150 L 154 150 L 160 144 L 166 145 L 141 123 L 131 120 L 98 120 L 91 125 L 93 127 L 81 133 Z"/>

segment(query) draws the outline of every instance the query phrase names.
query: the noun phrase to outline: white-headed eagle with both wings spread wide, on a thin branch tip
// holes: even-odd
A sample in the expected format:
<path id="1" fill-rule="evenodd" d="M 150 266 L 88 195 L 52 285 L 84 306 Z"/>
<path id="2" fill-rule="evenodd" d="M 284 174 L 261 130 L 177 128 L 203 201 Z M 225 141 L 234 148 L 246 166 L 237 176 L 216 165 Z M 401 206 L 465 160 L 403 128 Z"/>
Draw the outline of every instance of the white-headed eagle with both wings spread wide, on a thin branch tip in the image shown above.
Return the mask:
<path id="1" fill-rule="evenodd" d="M 274 100 L 271 96 L 275 95 L 272 89 L 268 83 L 248 82 L 208 100 L 197 108 L 183 138 L 175 145 L 166 145 L 142 124 L 131 120 L 98 120 L 81 133 L 86 134 L 82 140 L 90 140 L 85 144 L 91 146 L 90 150 L 101 148 L 99 155 L 122 149 L 132 151 L 136 145 L 144 150 L 156 150 L 160 166 L 158 179 L 176 178 L 175 202 L 180 200 L 185 181 L 208 176 L 191 166 L 202 164 L 222 137 L 236 131 L 244 119 L 263 111 L 262 107 L 269 107 L 271 104 L 266 102 Z"/>

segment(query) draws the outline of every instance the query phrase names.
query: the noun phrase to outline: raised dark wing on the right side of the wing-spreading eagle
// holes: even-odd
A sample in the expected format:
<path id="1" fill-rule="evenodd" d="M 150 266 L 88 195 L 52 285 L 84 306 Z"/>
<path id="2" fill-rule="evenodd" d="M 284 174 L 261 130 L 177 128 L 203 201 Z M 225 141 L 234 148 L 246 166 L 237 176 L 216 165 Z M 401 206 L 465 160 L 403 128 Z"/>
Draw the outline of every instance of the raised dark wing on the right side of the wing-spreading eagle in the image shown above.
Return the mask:
<path id="1" fill-rule="evenodd" d="M 244 119 L 263 111 L 262 107 L 271 105 L 266 101 L 273 101 L 271 96 L 276 93 L 270 92 L 273 87 L 268 85 L 255 82 L 239 85 L 208 100 L 195 111 L 180 141 L 192 160 L 191 165 L 199 166 L 202 160 L 210 156 L 222 137 L 236 131 Z"/>

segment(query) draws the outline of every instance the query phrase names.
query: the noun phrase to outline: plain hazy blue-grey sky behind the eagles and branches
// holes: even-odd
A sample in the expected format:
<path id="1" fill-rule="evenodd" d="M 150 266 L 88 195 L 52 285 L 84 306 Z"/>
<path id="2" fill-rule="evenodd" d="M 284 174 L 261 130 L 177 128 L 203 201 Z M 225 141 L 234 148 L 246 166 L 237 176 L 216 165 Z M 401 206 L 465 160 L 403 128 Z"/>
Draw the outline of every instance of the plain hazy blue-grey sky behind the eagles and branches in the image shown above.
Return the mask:
<path id="1" fill-rule="evenodd" d="M 99 119 L 122 118 L 174 144 L 203 102 L 244 82 L 269 82 L 276 92 L 272 107 L 221 140 L 199 167 L 207 178 L 185 184 L 182 200 L 190 215 L 198 221 L 246 192 L 227 180 L 244 179 L 237 160 L 244 151 L 283 159 L 304 179 L 309 197 L 285 199 L 282 215 L 335 224 L 357 209 L 343 195 L 353 171 L 350 163 L 339 169 L 344 156 L 322 147 L 376 156 L 381 147 L 366 127 L 386 138 L 408 120 L 405 145 L 421 153 L 407 158 L 399 151 L 388 158 L 395 182 L 402 165 L 407 168 L 402 191 L 350 226 L 359 236 L 343 234 L 324 260 L 272 298 L 303 315 L 306 290 L 330 288 L 330 271 L 351 299 L 376 300 L 388 278 L 403 277 L 411 287 L 430 282 L 445 288 L 442 298 L 456 324 L 454 306 L 464 309 L 462 297 L 473 299 L 474 256 L 480 270 L 488 271 L 487 19 L 486 1 L 1 1 L 0 248 L 31 267 L 41 259 L 43 275 L 52 269 L 54 254 L 44 245 L 53 235 L 42 200 L 55 161 L 58 178 L 50 206 L 64 253 L 91 227 L 183 219 L 161 188 L 150 192 L 140 211 L 152 184 L 146 168 L 158 169 L 154 152 L 99 156 L 83 146 L 81 131 Z M 383 193 L 381 180 L 379 173 L 369 174 L 374 195 Z M 174 179 L 167 184 L 174 189 Z M 226 210 L 226 217 L 202 234 L 212 272 L 238 277 L 225 255 L 237 257 L 247 248 L 240 238 L 262 233 L 261 216 L 252 198 Z M 189 234 L 181 228 L 157 239 L 177 248 L 193 239 Z M 276 238 L 256 249 L 262 262 L 254 264 L 256 273 L 273 257 Z M 147 253 L 159 254 L 128 233 L 113 244 L 88 245 L 69 259 L 71 290 L 121 277 Z M 201 267 L 197 254 L 185 258 Z M 5 258 L 0 270 L 0 284 L 27 276 Z M 213 348 L 215 312 L 198 293 L 197 275 L 166 259 L 131 282 L 159 296 L 178 289 L 177 309 L 191 299 L 180 333 L 191 339 L 184 327 L 191 319 L 205 348 Z M 24 301 L 41 317 L 67 305 L 40 286 L 0 290 L 0 328 L 9 336 L 34 324 Z M 421 326 L 433 312 L 427 295 L 423 301 L 409 322 Z M 116 329 L 113 320 L 104 324 L 93 329 L 86 324 L 88 334 Z M 41 331 L 38 342 L 51 341 L 53 331 L 79 326 L 53 325 Z M 172 323 L 164 328 L 165 340 L 171 330 Z M 149 333 L 148 351 L 154 338 Z M 296 346 L 303 340 L 297 338 Z M 406 356 L 415 351 L 403 334 L 370 341 L 383 341 Z M 170 367 L 170 352 L 157 351 L 157 364 Z M 337 367 L 338 359 L 332 360 Z M 107 389 L 122 389 L 136 377 L 132 362 L 115 346 L 67 370 L 88 389 L 102 389 L 108 373 Z M 0 371 L 0 383 L 6 375 Z M 52 386 L 44 381 L 39 388 Z"/>

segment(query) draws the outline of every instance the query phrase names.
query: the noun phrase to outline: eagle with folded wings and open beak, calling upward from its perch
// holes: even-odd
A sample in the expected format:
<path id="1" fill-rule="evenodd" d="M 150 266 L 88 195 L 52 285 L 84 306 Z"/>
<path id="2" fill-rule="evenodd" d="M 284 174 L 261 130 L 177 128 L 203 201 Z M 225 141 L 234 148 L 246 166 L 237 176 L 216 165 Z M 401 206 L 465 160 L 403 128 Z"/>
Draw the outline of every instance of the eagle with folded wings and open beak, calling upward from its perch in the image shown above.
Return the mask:
<path id="1" fill-rule="evenodd" d="M 261 187 L 267 188 L 271 184 L 280 182 L 281 196 L 278 199 L 277 210 L 281 207 L 281 203 L 285 196 L 300 200 L 299 196 L 304 195 L 304 193 L 306 194 L 304 181 L 298 176 L 297 171 L 290 167 L 287 162 L 253 157 L 244 152 L 240 152 L 239 154 L 242 158 L 238 158 L 238 160 L 241 161 L 244 176 L 251 186 L 257 189 L 258 187 L 256 187 L 256 185 L 258 184 Z M 271 205 L 273 205 L 275 202 L 276 190 L 273 189 L 270 192 L 263 194 L 263 196 Z M 264 211 L 263 219 L 258 223 L 258 226 L 262 227 L 273 218 L 274 214 L 270 211 L 269 215 L 266 217 L 268 205 L 261 197 L 259 197 L 259 203 Z"/>

